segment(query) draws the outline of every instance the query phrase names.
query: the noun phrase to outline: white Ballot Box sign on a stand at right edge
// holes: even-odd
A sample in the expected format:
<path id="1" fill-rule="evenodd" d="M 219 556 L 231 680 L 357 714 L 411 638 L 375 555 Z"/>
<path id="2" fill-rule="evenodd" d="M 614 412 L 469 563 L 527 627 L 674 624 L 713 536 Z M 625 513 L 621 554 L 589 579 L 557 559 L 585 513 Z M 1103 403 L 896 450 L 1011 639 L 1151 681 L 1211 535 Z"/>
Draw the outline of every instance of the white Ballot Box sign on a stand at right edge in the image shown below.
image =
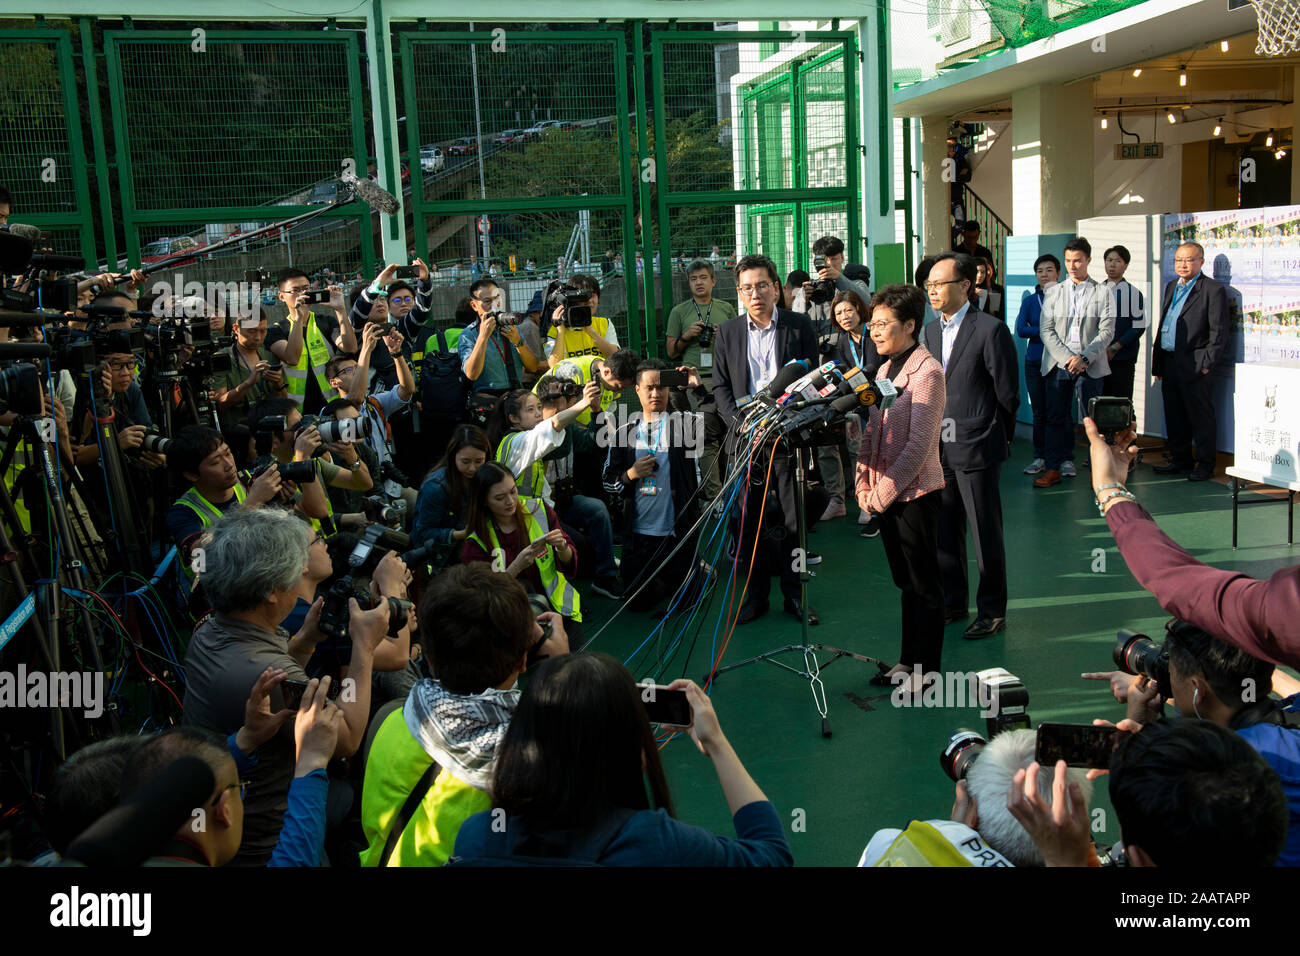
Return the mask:
<path id="1" fill-rule="evenodd" d="M 1235 468 L 1261 481 L 1300 481 L 1300 364 L 1239 364 Z"/>

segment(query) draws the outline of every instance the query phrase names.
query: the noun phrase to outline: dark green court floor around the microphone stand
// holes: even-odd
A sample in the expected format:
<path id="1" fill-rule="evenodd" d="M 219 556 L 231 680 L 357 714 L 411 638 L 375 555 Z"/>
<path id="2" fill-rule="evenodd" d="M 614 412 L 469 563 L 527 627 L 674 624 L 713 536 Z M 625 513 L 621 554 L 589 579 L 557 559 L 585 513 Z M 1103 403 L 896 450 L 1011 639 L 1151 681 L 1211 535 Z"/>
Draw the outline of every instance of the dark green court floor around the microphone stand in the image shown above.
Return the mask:
<path id="1" fill-rule="evenodd" d="M 1035 489 L 1022 475 L 1031 449 L 1019 441 L 1002 470 L 1002 516 L 1006 533 L 1010 605 L 1006 631 L 980 641 L 962 640 L 965 623 L 952 624 L 944 643 L 945 671 L 1002 666 L 1030 691 L 1035 726 L 1044 721 L 1118 721 L 1123 709 L 1109 687 L 1079 674 L 1112 670 L 1115 631 L 1164 633 L 1167 615 L 1124 566 L 1105 522 L 1093 505 L 1087 449 L 1079 449 L 1080 475 L 1049 489 Z M 1242 511 L 1242 548 L 1231 550 L 1231 498 L 1218 483 L 1138 468 L 1130 488 L 1160 525 L 1201 561 L 1268 578 L 1297 561 L 1286 545 L 1286 503 Z M 814 641 L 844 646 L 890 663 L 898 654 L 898 591 L 879 538 L 858 536 L 857 510 L 816 528 L 810 604 L 822 618 L 810 628 Z M 971 594 L 978 570 L 970 551 Z M 723 663 L 796 643 L 800 626 L 780 611 L 777 583 L 771 584 L 772 613 L 736 628 Z M 584 596 L 586 633 L 594 635 L 615 604 Z M 686 654 L 686 635 L 660 676 L 701 680 L 708 671 L 719 602 Z M 974 610 L 974 606 L 972 606 Z M 646 614 L 623 613 L 599 635 L 592 650 L 623 661 L 654 630 Z M 720 641 L 724 630 L 719 630 Z M 638 679 L 654 670 L 659 649 L 675 635 L 651 640 L 632 661 Z M 824 662 L 827 654 L 822 654 Z M 800 654 L 781 658 L 800 666 Z M 820 718 L 809 683 L 771 663 L 758 662 L 722 675 L 712 698 L 718 715 L 746 769 L 788 822 L 790 848 L 801 866 L 852 866 L 871 835 L 913 818 L 948 818 L 953 784 L 939 766 L 939 753 L 956 727 L 983 732 L 976 706 L 904 709 L 890 705 L 888 688 L 867 684 L 872 670 L 842 658 L 823 671 L 833 735 L 820 735 Z M 733 835 L 731 816 L 708 760 L 685 737 L 663 749 L 677 817 L 718 834 Z M 1092 800 L 1096 840 L 1113 843 L 1118 825 L 1098 780 Z M 1100 810 L 1100 813 L 1098 813 Z"/>

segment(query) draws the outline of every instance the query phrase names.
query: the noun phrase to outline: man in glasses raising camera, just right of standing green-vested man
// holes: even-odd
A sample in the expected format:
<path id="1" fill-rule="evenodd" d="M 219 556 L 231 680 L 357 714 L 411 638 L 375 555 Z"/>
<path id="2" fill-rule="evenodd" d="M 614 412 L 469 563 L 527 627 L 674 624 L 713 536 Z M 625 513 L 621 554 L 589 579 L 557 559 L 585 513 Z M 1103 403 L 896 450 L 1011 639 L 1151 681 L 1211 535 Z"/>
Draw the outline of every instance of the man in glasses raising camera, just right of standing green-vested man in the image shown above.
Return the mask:
<path id="1" fill-rule="evenodd" d="M 385 346 L 382 350 L 378 347 L 381 341 Z M 338 355 L 330 359 L 326 375 L 329 375 L 330 385 L 352 403 L 354 411 L 360 410 L 361 418 L 370 423 L 365 445 L 374 453 L 378 462 L 378 471 L 374 473 L 380 476 L 384 493 L 391 499 L 404 498 L 407 511 L 411 512 L 415 510 L 416 492 L 413 488 L 404 486 L 410 484 L 410 479 L 398 470 L 394 460 L 395 447 L 390 424 L 394 418 L 410 407 L 411 399 L 415 397 L 415 376 L 402 354 L 402 333 L 396 329 L 385 336 L 378 325 L 367 325 L 361 333 L 361 351 L 356 360 Z M 367 397 L 365 384 L 369 380 L 370 363 L 380 351 L 387 355 L 393 363 L 396 385 Z"/>

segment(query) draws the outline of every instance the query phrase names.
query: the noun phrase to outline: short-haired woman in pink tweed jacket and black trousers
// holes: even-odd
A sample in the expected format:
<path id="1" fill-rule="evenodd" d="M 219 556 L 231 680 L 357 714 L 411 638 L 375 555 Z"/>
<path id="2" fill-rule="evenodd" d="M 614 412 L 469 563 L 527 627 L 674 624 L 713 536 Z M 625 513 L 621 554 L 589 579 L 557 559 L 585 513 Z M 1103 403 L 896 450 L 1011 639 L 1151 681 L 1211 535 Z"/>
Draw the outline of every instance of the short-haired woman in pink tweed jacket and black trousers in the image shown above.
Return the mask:
<path id="1" fill-rule="evenodd" d="M 924 294 L 913 285 L 885 286 L 871 299 L 871 341 L 885 359 L 898 398 L 870 410 L 858 451 L 858 506 L 880 515 L 880 541 L 902 592 L 898 663 L 872 678 L 883 687 L 918 693 L 937 674 L 944 646 L 944 589 L 939 576 L 939 433 L 944 418 L 944 369 L 918 343 Z"/>

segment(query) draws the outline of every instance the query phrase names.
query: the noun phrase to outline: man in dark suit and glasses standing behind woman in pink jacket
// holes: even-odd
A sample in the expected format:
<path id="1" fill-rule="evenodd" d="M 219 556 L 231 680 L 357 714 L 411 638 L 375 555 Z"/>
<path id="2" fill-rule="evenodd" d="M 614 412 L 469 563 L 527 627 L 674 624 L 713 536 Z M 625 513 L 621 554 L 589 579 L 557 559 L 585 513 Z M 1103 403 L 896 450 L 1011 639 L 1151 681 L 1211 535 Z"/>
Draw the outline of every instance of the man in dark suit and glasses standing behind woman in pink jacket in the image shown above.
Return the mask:
<path id="1" fill-rule="evenodd" d="M 944 365 L 948 388 L 939 457 L 944 490 L 939 512 L 939 570 L 945 623 L 968 613 L 966 524 L 979 562 L 975 622 L 962 635 L 988 637 L 1006 626 L 1006 548 L 997 481 L 1010 455 L 1020 405 L 1019 356 L 1006 323 L 971 308 L 975 259 L 936 256 L 926 281 L 937 323 L 922 333 L 926 350 Z"/>

